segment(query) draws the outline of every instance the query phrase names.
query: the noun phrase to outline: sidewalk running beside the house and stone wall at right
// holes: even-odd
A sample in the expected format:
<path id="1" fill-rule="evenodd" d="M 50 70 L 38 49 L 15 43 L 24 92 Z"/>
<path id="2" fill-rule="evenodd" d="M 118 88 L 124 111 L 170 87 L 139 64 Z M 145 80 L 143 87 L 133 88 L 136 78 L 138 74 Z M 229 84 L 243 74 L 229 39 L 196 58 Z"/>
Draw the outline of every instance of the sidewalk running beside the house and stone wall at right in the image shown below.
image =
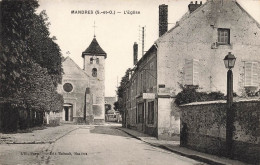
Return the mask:
<path id="1" fill-rule="evenodd" d="M 133 136 L 134 138 L 139 139 L 152 146 L 160 147 L 168 151 L 174 152 L 176 154 L 179 154 L 181 156 L 195 159 L 204 163 L 214 164 L 214 165 L 246 165 L 246 163 L 237 160 L 231 160 L 225 157 L 218 157 L 215 155 L 210 155 L 210 154 L 194 151 L 188 148 L 180 147 L 179 141 L 158 140 L 155 137 L 151 137 L 147 134 L 135 130 L 122 128 L 122 127 L 118 127 L 117 129 L 124 131 L 125 133 Z"/>

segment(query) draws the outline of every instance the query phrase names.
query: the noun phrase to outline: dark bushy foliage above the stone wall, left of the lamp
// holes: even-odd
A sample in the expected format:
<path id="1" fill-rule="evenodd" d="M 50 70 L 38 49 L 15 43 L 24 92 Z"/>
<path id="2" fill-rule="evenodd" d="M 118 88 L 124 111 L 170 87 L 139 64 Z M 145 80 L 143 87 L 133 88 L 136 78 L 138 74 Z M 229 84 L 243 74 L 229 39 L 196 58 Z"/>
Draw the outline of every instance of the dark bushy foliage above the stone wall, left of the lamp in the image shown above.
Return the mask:
<path id="1" fill-rule="evenodd" d="M 182 91 L 177 94 L 175 103 L 177 105 L 187 104 L 198 101 L 213 101 L 213 100 L 224 100 L 225 96 L 221 92 L 198 92 L 198 86 L 193 85 L 180 85 Z"/>

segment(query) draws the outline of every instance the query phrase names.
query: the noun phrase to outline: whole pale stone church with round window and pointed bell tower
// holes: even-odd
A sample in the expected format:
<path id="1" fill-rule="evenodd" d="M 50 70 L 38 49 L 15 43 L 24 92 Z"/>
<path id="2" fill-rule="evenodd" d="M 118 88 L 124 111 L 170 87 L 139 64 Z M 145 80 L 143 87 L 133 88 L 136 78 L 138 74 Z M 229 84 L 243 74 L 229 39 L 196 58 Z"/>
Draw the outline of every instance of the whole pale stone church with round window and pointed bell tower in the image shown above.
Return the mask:
<path id="1" fill-rule="evenodd" d="M 62 84 L 58 86 L 58 92 L 64 98 L 60 121 L 87 124 L 105 121 L 106 57 L 94 36 L 82 52 L 83 69 L 70 57 L 64 59 Z"/>

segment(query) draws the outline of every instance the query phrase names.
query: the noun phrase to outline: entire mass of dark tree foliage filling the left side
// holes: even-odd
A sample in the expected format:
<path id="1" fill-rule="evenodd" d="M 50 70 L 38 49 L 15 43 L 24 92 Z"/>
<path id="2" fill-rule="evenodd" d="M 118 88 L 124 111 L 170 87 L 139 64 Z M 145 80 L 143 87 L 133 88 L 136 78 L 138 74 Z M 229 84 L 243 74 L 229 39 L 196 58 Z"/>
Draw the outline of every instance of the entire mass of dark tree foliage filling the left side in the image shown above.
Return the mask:
<path id="1" fill-rule="evenodd" d="M 0 98 L 42 120 L 44 112 L 62 110 L 63 97 L 56 91 L 62 57 L 49 36 L 47 14 L 35 13 L 38 6 L 37 0 L 0 2 Z"/>

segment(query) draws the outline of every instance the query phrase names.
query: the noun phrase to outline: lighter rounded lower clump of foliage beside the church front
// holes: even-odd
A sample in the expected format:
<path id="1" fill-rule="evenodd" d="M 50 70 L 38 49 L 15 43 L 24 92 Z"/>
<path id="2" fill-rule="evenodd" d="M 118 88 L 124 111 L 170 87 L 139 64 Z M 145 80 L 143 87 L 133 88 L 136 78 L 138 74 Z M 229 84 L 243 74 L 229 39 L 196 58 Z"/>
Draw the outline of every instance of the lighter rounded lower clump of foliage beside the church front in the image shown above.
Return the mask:
<path id="1" fill-rule="evenodd" d="M 16 96 L 17 99 L 23 98 L 24 106 L 36 111 L 61 110 L 63 99 L 57 93 L 51 76 L 47 73 L 47 69 L 34 63 L 32 68 L 26 68 L 24 73 L 27 76 L 27 81 L 20 84 L 19 95 Z"/>

